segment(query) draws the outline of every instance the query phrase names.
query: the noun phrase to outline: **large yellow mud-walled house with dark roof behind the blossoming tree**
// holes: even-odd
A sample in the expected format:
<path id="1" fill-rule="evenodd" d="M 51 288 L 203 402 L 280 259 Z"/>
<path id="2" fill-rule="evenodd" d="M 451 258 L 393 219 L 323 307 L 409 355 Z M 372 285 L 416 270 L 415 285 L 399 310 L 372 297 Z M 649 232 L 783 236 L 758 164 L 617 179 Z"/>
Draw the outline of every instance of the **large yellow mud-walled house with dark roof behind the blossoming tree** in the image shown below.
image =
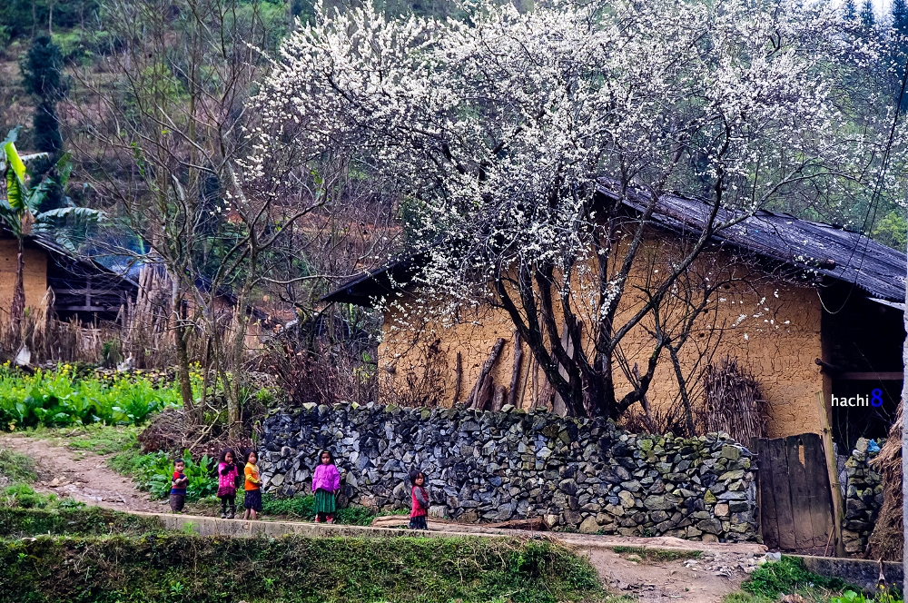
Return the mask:
<path id="1" fill-rule="evenodd" d="M 600 194 L 610 193 L 602 189 Z M 629 216 L 642 207 L 639 200 L 625 204 Z M 646 246 L 655 250 L 698 236 L 705 215 L 700 201 L 664 199 Z M 859 437 L 884 437 L 902 387 L 904 254 L 856 232 L 765 211 L 714 239 L 703 262 L 713 262 L 718 270 L 746 265 L 747 272 L 724 285 L 713 300 L 715 308 L 681 350 L 679 360 L 693 381 L 691 395 L 703 396 L 697 383 L 707 364 L 731 358 L 759 386 L 768 437 L 819 433 L 821 412 L 848 450 Z M 491 372 L 494 382 L 517 408 L 535 408 L 544 377 L 526 348 L 519 369 L 515 366 L 514 328 L 505 311 L 480 307 L 444 325 L 431 317 L 418 326 L 400 319 L 418 294 L 412 280 L 419 269 L 418 256 L 406 257 L 324 298 L 382 307 L 380 396 L 393 401 L 419 391 L 428 404 L 464 401 L 490 351 L 504 339 L 508 343 L 498 346 Z M 645 271 L 641 266 L 637 278 Z M 389 298 L 396 302 L 380 303 Z M 632 294 L 622 301 L 627 310 L 640 302 Z M 645 326 L 630 332 L 622 342 L 626 366 L 645 364 L 651 338 Z M 509 389 L 515 389 L 512 396 Z M 620 395 L 620 384 L 617 390 Z M 676 408 L 679 386 L 670 362 L 661 362 L 647 395 L 656 409 Z"/>

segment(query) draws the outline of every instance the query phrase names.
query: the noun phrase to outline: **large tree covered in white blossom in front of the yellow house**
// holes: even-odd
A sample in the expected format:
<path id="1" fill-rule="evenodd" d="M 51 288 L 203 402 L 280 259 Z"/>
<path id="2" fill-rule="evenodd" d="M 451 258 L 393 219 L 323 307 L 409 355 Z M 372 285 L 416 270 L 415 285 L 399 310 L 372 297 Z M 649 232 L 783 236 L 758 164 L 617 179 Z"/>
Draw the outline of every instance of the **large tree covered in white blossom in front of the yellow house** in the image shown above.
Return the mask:
<path id="1" fill-rule="evenodd" d="M 716 232 L 786 196 L 864 185 L 888 134 L 886 104 L 849 92 L 881 49 L 824 5 L 463 10 L 442 22 L 320 8 L 254 100 L 244 177 L 344 153 L 396 187 L 427 258 L 424 305 L 507 311 L 572 414 L 617 417 L 643 399 L 661 351 L 683 338 L 655 338 L 622 396 L 619 345 Z M 702 232 L 619 312 L 669 192 L 705 199 Z M 637 211 L 628 198 L 643 200 Z"/>

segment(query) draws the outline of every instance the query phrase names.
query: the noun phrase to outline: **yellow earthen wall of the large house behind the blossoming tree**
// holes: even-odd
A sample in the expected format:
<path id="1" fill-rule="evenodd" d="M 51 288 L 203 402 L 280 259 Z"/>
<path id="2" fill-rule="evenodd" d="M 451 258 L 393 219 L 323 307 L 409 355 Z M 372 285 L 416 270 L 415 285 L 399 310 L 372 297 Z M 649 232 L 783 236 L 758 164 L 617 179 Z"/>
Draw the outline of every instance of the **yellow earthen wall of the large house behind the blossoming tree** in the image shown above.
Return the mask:
<path id="1" fill-rule="evenodd" d="M 641 302 L 633 293 L 628 293 L 622 301 L 619 319 Z M 823 378 L 814 363 L 814 359 L 822 357 L 821 306 L 816 292 L 807 287 L 775 282 L 763 275 L 762 279 L 749 279 L 746 287 L 735 285 L 717 294 L 715 303 L 715 313 L 705 315 L 698 322 L 691 340 L 680 352 L 685 374 L 699 376 L 699 371 L 706 365 L 704 353 L 712 353 L 716 362 L 725 355 L 736 357 L 739 365 L 751 371 L 761 384 L 768 402 L 769 437 L 818 432 L 815 392 L 823 390 Z M 740 319 L 742 314 L 744 319 Z M 618 324 L 621 322 L 617 321 Z M 508 388 L 514 363 L 513 333 L 507 313 L 497 309 L 471 311 L 452 326 L 443 326 L 437 320 L 416 326 L 409 312 L 391 308 L 384 316 L 383 341 L 379 347 L 380 395 L 384 400 L 393 400 L 401 392 L 428 388 L 438 392 L 441 405 L 451 405 L 456 355 L 460 351 L 463 380 L 459 401 L 466 400 L 482 363 L 499 337 L 506 343 L 492 374 L 496 385 Z M 645 371 L 652 345 L 651 336 L 641 325 L 627 334 L 622 350 L 631 366 L 637 362 L 640 371 Z M 431 351 L 433 349 L 437 352 Z M 533 391 L 532 377 L 528 376 L 531 354 L 526 345 L 523 351 L 518 392 L 523 392 L 522 407 L 528 408 Z M 426 377 L 428 357 L 435 359 L 429 378 Z M 617 366 L 614 370 L 616 394 L 620 397 L 630 390 L 630 386 Z M 541 371 L 539 380 L 541 386 L 544 381 Z M 417 384 L 415 388 L 414 383 Z M 688 387 L 694 390 L 692 395 L 696 400 L 702 399 L 702 388 Z M 420 395 L 423 393 L 425 391 Z M 662 410 L 667 410 L 678 399 L 679 388 L 667 352 L 660 358 L 648 396 L 654 408 Z"/>

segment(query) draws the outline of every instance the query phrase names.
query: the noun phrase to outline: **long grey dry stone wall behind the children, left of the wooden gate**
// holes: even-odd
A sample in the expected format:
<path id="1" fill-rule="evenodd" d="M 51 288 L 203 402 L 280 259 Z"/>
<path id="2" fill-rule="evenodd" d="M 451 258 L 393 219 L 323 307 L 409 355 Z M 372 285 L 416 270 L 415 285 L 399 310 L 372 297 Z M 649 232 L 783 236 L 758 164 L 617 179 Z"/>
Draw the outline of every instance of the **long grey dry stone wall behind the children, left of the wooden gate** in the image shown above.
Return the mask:
<path id="1" fill-rule="evenodd" d="M 435 516 L 545 517 L 560 529 L 703 540 L 757 539 L 755 467 L 733 440 L 634 435 L 550 413 L 314 405 L 263 423 L 264 490 L 309 493 L 319 450 L 341 470 L 341 503 L 410 505 L 427 474 Z"/>

